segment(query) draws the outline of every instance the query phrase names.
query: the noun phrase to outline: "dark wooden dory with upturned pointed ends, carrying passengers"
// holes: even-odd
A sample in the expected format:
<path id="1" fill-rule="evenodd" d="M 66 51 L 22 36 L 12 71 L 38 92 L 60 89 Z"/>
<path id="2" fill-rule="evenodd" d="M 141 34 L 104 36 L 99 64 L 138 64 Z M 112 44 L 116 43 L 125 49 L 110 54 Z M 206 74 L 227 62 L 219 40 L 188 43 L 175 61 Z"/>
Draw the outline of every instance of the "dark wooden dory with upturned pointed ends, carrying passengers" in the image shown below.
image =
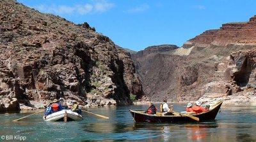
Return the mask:
<path id="1" fill-rule="evenodd" d="M 195 116 L 199 118 L 199 122 L 205 122 L 209 120 L 214 120 L 216 115 L 219 112 L 223 101 L 216 103 L 214 106 L 210 107 L 210 110 L 205 113 L 192 114 L 191 116 Z M 132 114 L 134 122 L 168 122 L 168 123 L 189 123 L 189 122 L 197 122 L 195 119 L 180 114 L 174 113 L 174 115 L 161 115 L 161 113 L 157 114 L 146 114 L 145 111 L 132 111 L 129 109 Z"/>

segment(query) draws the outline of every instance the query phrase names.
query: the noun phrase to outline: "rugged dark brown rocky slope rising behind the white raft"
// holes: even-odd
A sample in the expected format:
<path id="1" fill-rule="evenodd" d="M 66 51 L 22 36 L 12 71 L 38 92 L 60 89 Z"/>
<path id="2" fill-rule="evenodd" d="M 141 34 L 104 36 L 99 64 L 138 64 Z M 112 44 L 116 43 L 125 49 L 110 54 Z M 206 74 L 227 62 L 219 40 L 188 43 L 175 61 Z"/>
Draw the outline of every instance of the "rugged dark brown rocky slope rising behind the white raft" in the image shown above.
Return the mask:
<path id="1" fill-rule="evenodd" d="M 0 111 L 60 97 L 88 107 L 125 105 L 130 93 L 141 95 L 129 56 L 87 23 L 13 0 L 0 8 Z"/>

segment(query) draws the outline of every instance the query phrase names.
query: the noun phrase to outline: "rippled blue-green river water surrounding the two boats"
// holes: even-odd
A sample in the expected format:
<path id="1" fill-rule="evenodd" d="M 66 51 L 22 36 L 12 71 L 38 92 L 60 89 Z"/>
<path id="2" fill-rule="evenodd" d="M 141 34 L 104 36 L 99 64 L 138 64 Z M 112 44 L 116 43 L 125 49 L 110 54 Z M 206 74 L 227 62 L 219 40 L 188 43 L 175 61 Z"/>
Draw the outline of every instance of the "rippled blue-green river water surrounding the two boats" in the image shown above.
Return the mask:
<path id="1" fill-rule="evenodd" d="M 20 122 L 12 120 L 31 114 L 0 114 L 0 135 L 26 136 L 28 141 L 256 141 L 256 107 L 223 107 L 215 121 L 204 123 L 134 123 L 129 109 L 147 106 L 88 109 L 109 120 L 84 113 L 79 122 L 44 122 L 35 114 Z M 184 104 L 175 110 L 183 111 Z"/>

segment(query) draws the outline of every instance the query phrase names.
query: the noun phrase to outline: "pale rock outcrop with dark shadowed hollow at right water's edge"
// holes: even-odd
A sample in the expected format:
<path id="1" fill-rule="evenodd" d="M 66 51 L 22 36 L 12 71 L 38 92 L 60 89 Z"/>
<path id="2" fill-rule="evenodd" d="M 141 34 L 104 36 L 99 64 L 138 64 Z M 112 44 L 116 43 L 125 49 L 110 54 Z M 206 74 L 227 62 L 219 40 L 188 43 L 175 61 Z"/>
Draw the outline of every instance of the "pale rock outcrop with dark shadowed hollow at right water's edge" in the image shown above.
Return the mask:
<path id="1" fill-rule="evenodd" d="M 202 88 L 200 101 L 225 100 L 225 104 L 256 105 L 256 51 L 232 52 L 215 63 L 212 81 Z"/>

